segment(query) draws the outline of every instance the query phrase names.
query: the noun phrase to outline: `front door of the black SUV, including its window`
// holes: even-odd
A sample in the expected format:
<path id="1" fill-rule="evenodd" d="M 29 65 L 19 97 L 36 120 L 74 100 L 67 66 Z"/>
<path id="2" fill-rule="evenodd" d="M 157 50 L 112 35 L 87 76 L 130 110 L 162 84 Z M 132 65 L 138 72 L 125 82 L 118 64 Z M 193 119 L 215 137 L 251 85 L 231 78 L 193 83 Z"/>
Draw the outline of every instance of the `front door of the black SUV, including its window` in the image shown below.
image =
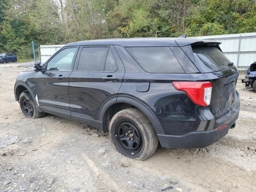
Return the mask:
<path id="1" fill-rule="evenodd" d="M 43 111 L 70 117 L 68 77 L 73 70 L 77 50 L 77 47 L 63 48 L 46 62 L 44 72 L 36 74 L 36 101 Z"/>

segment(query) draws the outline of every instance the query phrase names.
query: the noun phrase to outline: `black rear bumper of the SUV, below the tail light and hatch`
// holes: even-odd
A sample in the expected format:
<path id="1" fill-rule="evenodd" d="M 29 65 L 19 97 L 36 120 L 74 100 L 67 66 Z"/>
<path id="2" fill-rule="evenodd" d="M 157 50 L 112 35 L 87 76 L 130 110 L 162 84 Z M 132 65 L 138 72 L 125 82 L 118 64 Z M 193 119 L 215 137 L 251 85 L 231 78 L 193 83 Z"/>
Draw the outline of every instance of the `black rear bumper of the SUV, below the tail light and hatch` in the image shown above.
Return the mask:
<path id="1" fill-rule="evenodd" d="M 239 116 L 240 106 L 215 120 L 214 129 L 209 131 L 189 132 L 184 135 L 158 134 L 160 144 L 164 148 L 203 148 L 224 137 Z"/>

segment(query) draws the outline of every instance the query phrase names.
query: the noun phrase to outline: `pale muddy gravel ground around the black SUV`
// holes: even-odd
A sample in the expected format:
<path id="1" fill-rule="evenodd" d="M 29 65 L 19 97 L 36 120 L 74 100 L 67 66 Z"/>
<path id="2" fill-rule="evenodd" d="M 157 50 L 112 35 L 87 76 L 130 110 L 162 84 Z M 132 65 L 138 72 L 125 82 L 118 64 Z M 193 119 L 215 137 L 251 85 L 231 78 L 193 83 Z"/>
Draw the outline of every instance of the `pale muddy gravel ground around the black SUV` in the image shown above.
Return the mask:
<path id="1" fill-rule="evenodd" d="M 25 118 L 13 92 L 25 70 L 17 66 L 0 64 L 0 145 L 14 143 L 0 148 L 0 192 L 256 191 L 256 93 L 244 90 L 244 73 L 240 116 L 224 138 L 199 150 L 159 147 L 137 161 L 116 152 L 108 132 L 53 115 Z"/>

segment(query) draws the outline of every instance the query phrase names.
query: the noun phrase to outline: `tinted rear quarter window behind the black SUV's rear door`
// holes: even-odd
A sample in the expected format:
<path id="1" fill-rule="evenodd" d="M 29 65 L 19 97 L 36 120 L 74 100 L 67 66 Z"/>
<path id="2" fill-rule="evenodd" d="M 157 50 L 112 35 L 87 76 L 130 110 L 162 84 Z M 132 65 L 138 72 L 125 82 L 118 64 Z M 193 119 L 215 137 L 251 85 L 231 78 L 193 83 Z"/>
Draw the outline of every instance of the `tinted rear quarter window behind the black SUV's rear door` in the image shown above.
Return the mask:
<path id="1" fill-rule="evenodd" d="M 129 54 L 149 73 L 184 73 L 170 47 L 126 47 Z"/>

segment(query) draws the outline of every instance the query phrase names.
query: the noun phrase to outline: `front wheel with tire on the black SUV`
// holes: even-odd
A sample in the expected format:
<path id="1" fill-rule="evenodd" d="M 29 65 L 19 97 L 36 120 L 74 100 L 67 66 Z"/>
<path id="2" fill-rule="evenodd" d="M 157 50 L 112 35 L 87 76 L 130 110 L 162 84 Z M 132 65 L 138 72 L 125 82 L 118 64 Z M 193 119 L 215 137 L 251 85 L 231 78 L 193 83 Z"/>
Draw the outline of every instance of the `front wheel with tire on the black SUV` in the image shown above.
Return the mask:
<path id="1" fill-rule="evenodd" d="M 20 94 L 19 103 L 22 112 L 27 118 L 35 119 L 46 115 L 44 112 L 36 110 L 36 105 L 29 92 L 22 92 Z"/>

